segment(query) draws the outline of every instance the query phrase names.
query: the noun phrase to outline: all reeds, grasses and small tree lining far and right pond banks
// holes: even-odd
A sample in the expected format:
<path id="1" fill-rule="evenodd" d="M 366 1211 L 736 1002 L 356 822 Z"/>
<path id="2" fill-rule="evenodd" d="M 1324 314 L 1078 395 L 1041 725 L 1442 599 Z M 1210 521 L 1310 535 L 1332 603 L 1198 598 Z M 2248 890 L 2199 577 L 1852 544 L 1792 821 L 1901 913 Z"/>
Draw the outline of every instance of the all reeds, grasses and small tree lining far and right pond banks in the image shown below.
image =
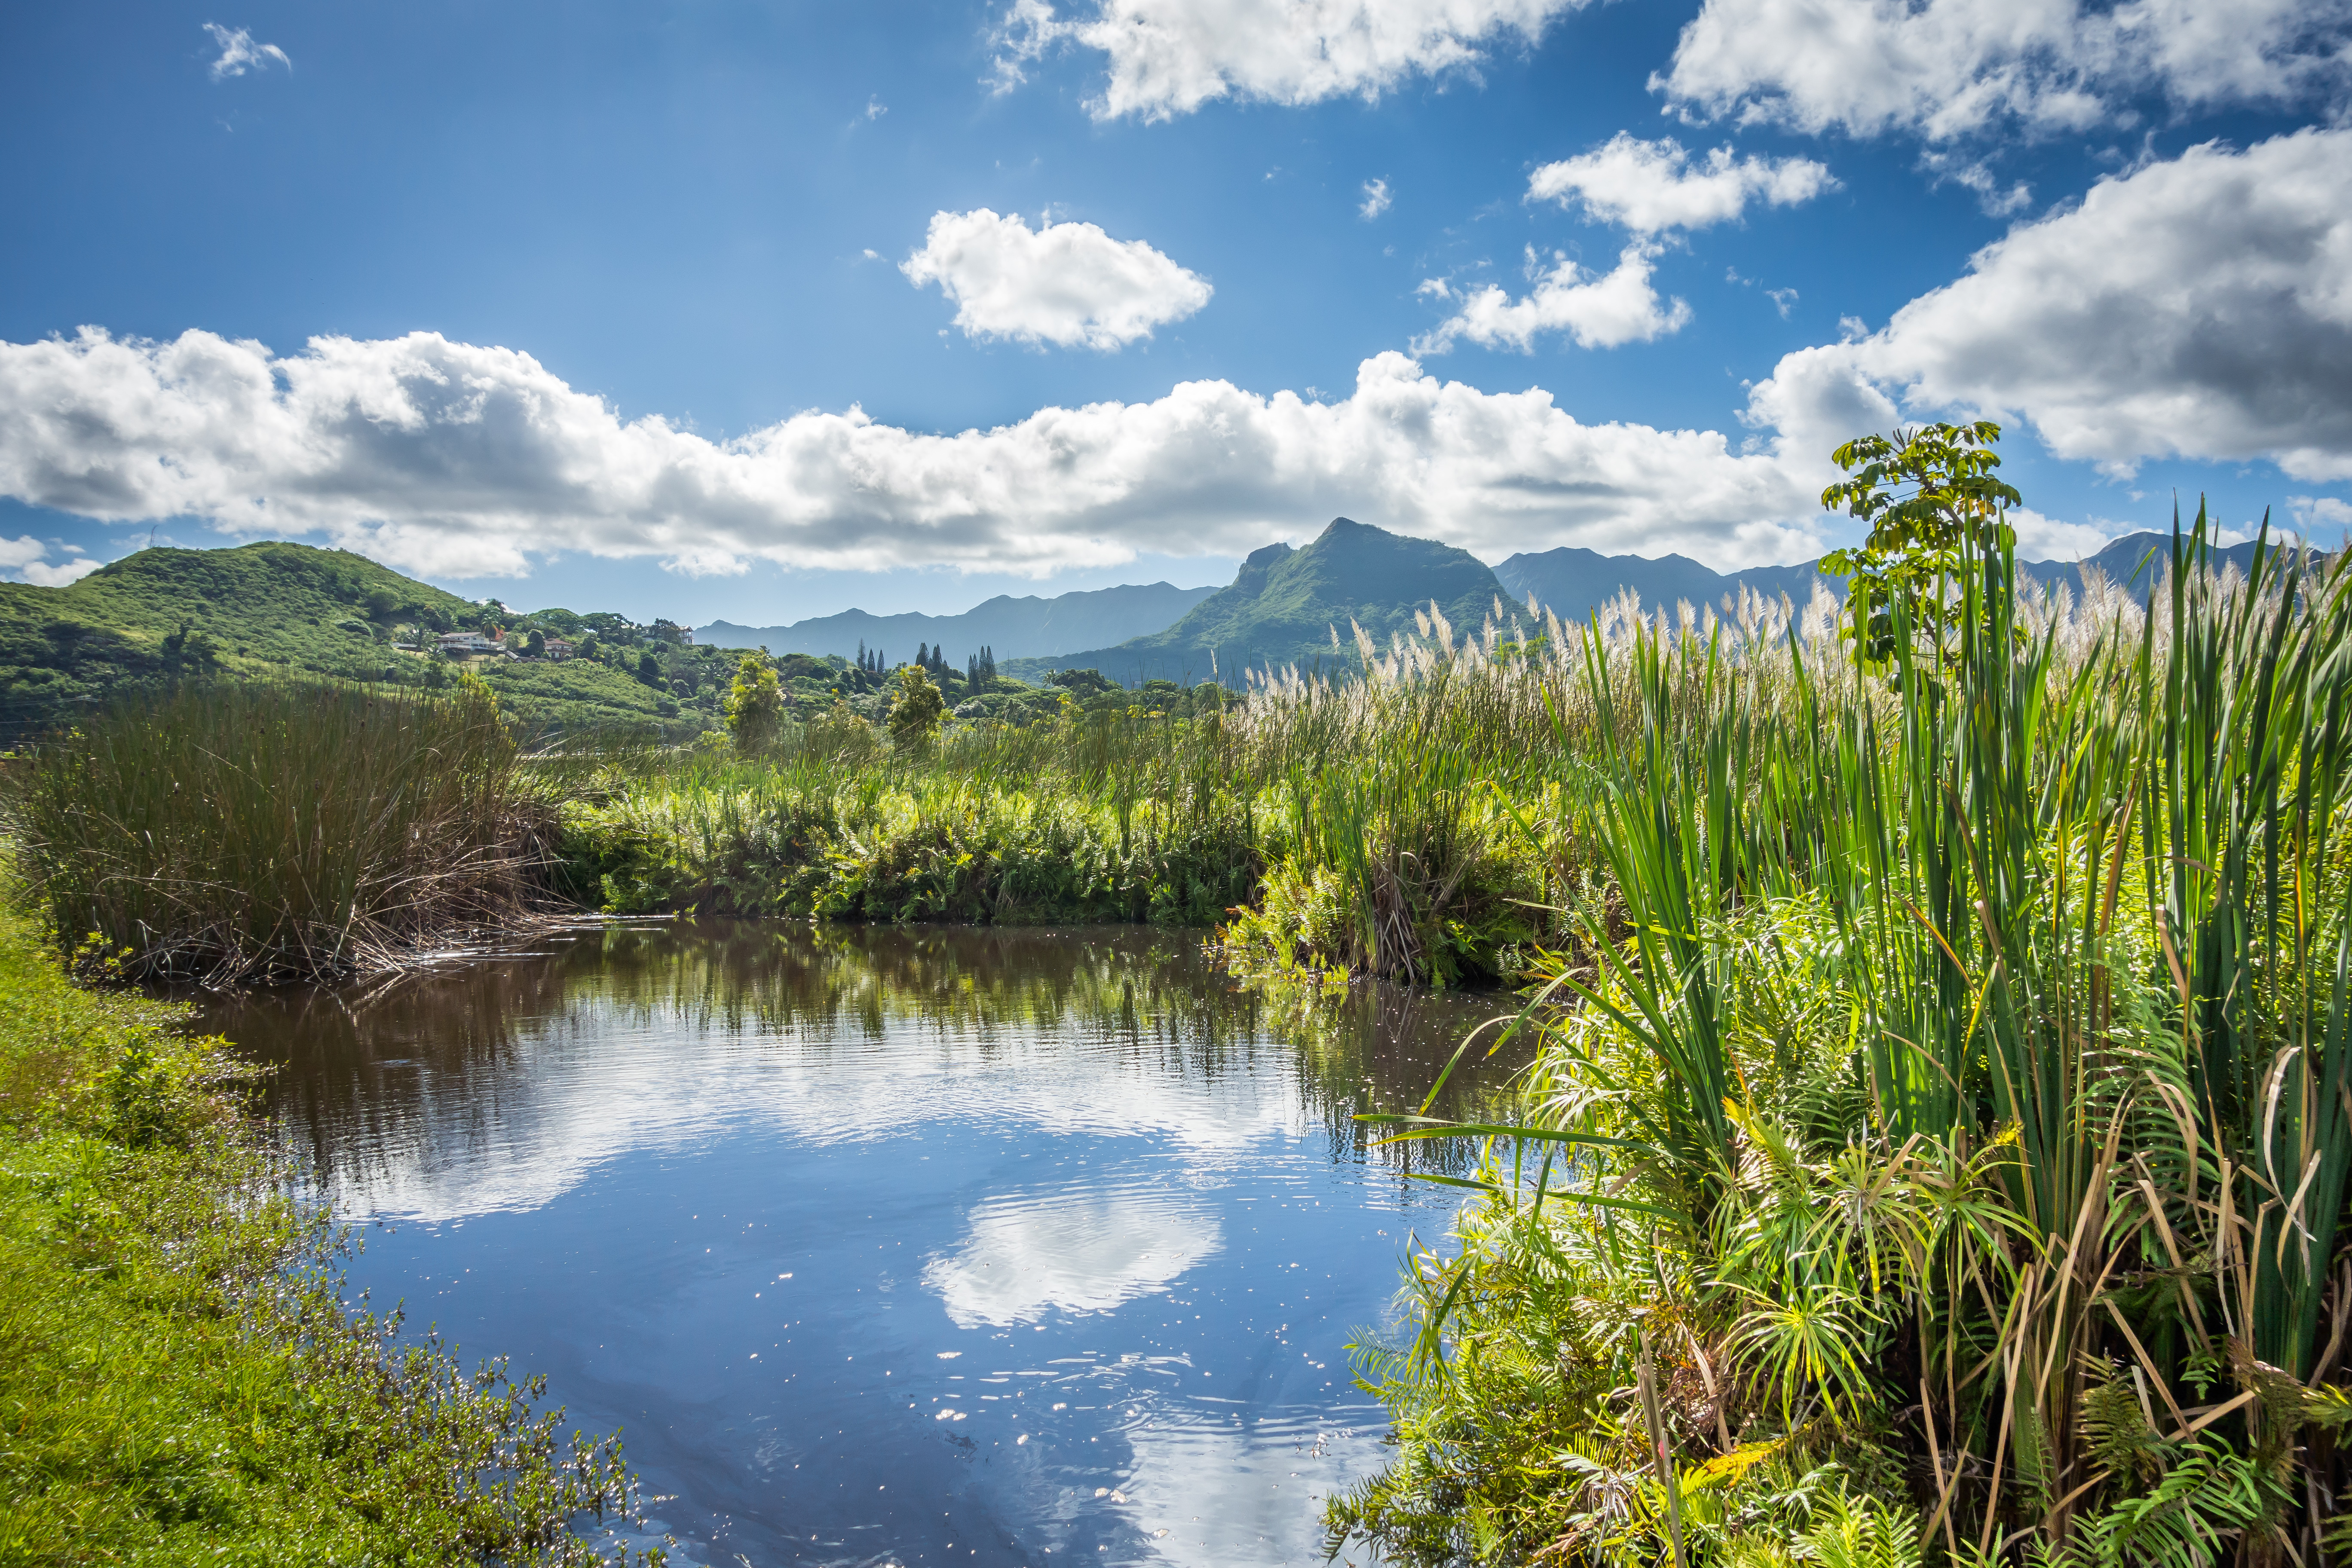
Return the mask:
<path id="1" fill-rule="evenodd" d="M 66 945 L 155 976 L 569 903 L 1148 919 L 1303 994 L 1501 987 L 1465 1048 L 1538 1041 L 1515 1107 L 1383 1124 L 1484 1159 L 1359 1349 L 1397 1446 L 1336 1552 L 2340 1561 L 2352 576 L 2216 571 L 2199 515 L 2044 592 L 1994 435 L 1839 451 L 1844 599 L 1425 614 L 1336 628 L 1345 675 L 1023 722 L 746 656 L 729 741 L 586 759 L 463 696 L 336 698 L 334 745 L 191 696 L 35 748 L 14 811 Z"/>

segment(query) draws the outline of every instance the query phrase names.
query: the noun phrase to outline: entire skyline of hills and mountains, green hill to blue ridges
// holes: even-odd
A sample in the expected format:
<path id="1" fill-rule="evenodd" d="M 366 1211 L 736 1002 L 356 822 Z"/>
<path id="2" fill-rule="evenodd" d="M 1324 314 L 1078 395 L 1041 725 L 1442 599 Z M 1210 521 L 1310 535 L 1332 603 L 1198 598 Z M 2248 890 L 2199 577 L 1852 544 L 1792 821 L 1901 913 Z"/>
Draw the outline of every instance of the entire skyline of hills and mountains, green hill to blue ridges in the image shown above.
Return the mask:
<path id="1" fill-rule="evenodd" d="M 2131 534 L 2086 562 L 2020 562 L 2042 583 L 2082 585 L 2084 567 L 2140 583 L 2169 534 Z M 2244 567 L 2253 545 L 2218 550 Z M 675 628 L 637 628 L 621 616 L 564 609 L 517 614 L 468 602 L 343 550 L 254 543 L 223 550 L 139 550 L 68 588 L 0 583 L 0 743 L 35 736 L 59 719 L 191 672 L 235 679 L 423 679 L 435 661 L 402 654 L 400 637 L 419 628 L 543 628 L 583 637 L 583 658 L 477 661 L 501 703 L 534 731 L 644 729 L 687 741 L 715 726 L 731 658 L 724 646 L 779 654 L 854 654 L 858 639 L 894 661 L 915 642 L 943 644 L 950 663 L 993 646 L 997 670 L 1044 679 L 1056 670 L 1094 668 L 1136 686 L 1164 677 L 1242 684 L 1244 670 L 1282 665 L 1348 668 L 1350 621 L 1378 644 L 1409 630 L 1432 599 L 1456 635 L 1484 625 L 1501 599 L 1529 595 L 1552 614 L 1581 621 L 1632 588 L 1649 607 L 1677 599 L 1719 604 L 1750 585 L 1811 597 L 1816 564 L 1755 567 L 1719 574 L 1679 555 L 1644 559 L 1592 550 L 1512 555 L 1489 569 L 1475 555 L 1336 517 L 1301 550 L 1256 550 L 1225 588 L 1103 588 L 1040 597 L 997 597 L 964 616 L 866 616 L 847 611 L 793 628 L 703 628 L 703 646 L 680 644 Z M 962 628 L 962 630 L 960 630 Z M 781 635 L 779 635 L 781 632 Z M 1141 632 L 1141 635 L 1136 635 Z M 793 635 L 800 635 L 797 644 Z M 1334 646 L 1334 635 L 1338 646 Z M 830 646 L 828 646 L 830 644 Z M 1018 656 L 1014 649 L 1051 649 Z"/>

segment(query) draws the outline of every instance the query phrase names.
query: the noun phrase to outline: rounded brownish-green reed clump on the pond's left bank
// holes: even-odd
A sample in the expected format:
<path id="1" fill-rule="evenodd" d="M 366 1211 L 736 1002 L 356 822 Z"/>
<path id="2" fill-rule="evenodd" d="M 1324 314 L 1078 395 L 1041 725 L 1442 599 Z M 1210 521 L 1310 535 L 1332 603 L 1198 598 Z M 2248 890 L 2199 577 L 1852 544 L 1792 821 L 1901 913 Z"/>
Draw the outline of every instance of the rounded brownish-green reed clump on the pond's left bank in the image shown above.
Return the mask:
<path id="1" fill-rule="evenodd" d="M 553 802 L 496 698 L 186 684 L 31 748 L 7 806 L 33 896 L 127 980 L 318 980 L 508 919 Z"/>

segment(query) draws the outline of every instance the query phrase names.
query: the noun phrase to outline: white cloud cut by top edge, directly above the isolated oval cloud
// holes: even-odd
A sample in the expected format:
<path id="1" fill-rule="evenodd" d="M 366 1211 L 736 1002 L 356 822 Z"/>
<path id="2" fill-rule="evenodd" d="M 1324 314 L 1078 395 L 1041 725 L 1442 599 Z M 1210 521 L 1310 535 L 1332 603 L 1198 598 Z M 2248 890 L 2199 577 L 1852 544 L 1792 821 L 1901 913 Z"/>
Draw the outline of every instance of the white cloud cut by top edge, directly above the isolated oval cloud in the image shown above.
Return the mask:
<path id="1" fill-rule="evenodd" d="M 1110 63 L 1098 120 L 1169 120 L 1211 99 L 1319 103 L 1376 99 L 1411 75 L 1475 71 L 1486 49 L 1531 45 L 1588 0 L 1094 0 L 1063 16 L 1014 0 L 997 31 L 997 85 L 1061 47 Z"/>

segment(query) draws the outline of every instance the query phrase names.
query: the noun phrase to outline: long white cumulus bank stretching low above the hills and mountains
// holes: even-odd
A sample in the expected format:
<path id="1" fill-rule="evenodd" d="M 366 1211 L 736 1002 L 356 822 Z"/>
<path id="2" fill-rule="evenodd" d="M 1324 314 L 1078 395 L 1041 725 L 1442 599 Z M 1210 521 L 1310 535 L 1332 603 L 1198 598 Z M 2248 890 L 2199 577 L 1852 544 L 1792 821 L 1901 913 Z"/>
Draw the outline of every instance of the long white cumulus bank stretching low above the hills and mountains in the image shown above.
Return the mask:
<path id="1" fill-rule="evenodd" d="M 922 435 L 795 414 L 715 442 L 621 421 L 529 355 L 437 334 L 261 343 L 0 343 L 0 494 L 108 522 L 325 534 L 440 576 L 586 550 L 684 569 L 774 559 L 1103 567 L 1240 555 L 1345 512 L 1486 557 L 1576 543 L 1722 564 L 1811 555 L 1818 512 L 1771 454 L 1712 430 L 1588 425 L 1383 353 L 1345 400 L 1185 381 Z"/>

